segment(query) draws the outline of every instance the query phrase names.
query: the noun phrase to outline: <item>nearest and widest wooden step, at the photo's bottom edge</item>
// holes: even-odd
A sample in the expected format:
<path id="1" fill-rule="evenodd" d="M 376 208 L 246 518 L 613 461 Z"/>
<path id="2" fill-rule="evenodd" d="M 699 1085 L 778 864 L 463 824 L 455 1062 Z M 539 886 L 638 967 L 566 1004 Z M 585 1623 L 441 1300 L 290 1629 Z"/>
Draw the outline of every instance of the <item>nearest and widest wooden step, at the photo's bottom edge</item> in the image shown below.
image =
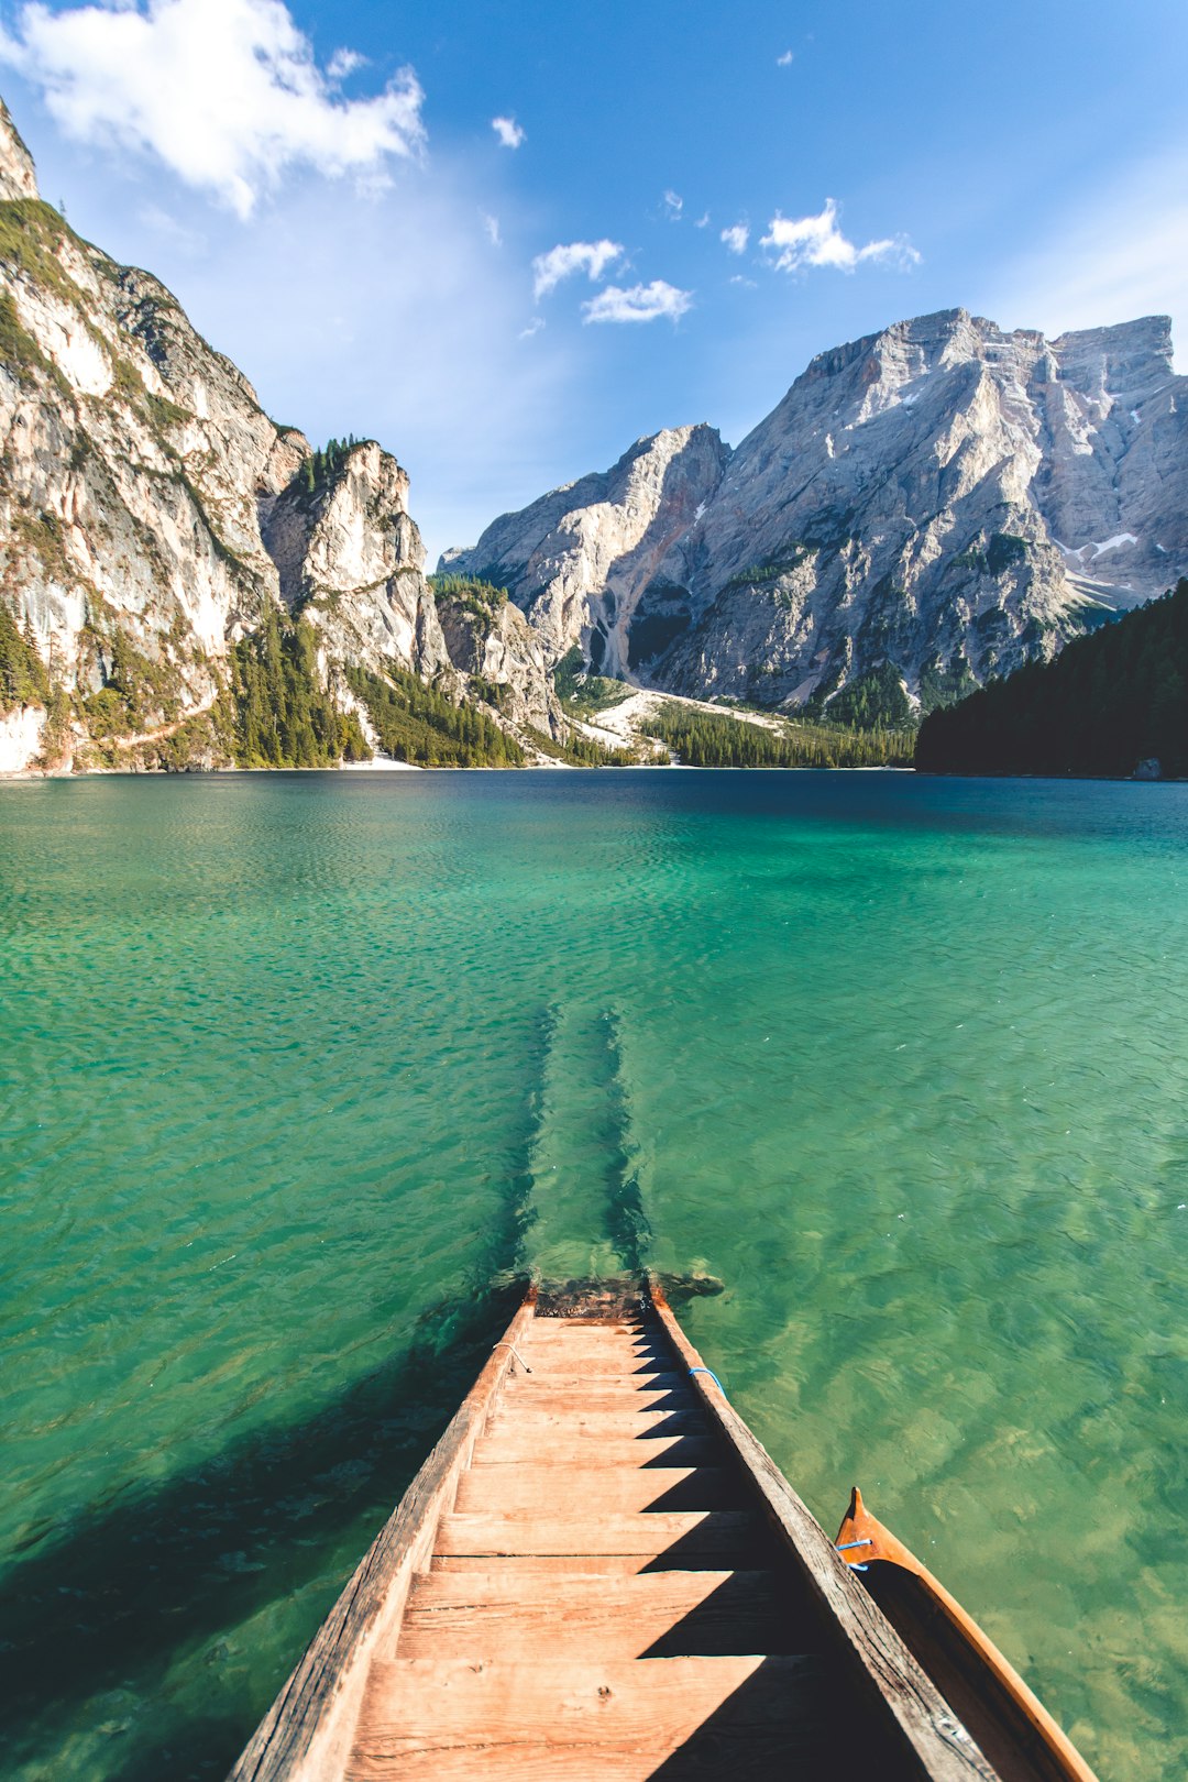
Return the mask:
<path id="1" fill-rule="evenodd" d="M 841 1775 L 846 1739 L 830 1707 L 812 1657 L 394 1659 L 376 1664 L 347 1778 L 643 1782 L 675 1753 L 682 1775 L 720 1778 L 723 1752 L 732 1782 L 769 1782 L 800 1766 L 805 1777 Z"/>

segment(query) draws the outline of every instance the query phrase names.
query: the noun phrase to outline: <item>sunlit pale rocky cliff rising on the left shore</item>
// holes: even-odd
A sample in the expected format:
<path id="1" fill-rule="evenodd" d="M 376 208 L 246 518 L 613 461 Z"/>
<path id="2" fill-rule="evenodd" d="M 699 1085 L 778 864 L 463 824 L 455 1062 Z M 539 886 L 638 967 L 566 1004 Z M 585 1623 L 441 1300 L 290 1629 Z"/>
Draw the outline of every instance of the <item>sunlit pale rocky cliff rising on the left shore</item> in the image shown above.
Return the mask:
<path id="1" fill-rule="evenodd" d="M 424 577 L 404 470 L 376 444 L 315 458 L 278 428 L 164 285 L 37 200 L 7 112 L 0 601 L 53 688 L 39 707 L 0 686 L 0 772 L 85 759 L 91 738 L 132 747 L 208 711 L 232 643 L 278 604 L 317 629 L 333 690 L 344 666 L 394 659 L 470 693 Z M 520 688 L 509 709 L 549 718 L 527 627 L 486 679 Z M 114 699 L 128 684 L 135 697 Z"/>

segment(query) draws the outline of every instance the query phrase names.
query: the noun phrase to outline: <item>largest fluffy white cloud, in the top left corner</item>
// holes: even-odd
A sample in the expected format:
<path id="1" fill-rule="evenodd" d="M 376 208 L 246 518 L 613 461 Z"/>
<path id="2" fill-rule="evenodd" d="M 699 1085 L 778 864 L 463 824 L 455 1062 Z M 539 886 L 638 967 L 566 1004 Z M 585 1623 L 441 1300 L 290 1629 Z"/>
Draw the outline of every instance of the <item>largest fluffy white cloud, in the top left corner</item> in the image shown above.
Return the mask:
<path id="1" fill-rule="evenodd" d="M 251 214 L 262 191 L 306 164 L 376 173 L 426 139 L 411 68 L 374 98 L 342 100 L 281 0 L 132 0 L 50 12 L 21 7 L 0 59 L 41 87 L 80 143 L 150 150 L 191 185 Z"/>

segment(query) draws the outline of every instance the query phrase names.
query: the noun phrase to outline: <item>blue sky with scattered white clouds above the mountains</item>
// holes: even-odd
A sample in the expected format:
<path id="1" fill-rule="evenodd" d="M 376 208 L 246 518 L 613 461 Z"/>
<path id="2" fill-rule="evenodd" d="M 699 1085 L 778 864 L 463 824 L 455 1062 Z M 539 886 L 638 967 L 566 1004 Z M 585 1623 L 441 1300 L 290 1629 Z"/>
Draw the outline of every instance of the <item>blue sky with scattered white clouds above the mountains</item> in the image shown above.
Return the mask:
<path id="1" fill-rule="evenodd" d="M 392 449 L 433 558 L 661 426 L 736 444 L 814 353 L 903 315 L 1160 310 L 1188 344 L 1183 0 L 0 21 L 45 196 L 278 421 Z"/>

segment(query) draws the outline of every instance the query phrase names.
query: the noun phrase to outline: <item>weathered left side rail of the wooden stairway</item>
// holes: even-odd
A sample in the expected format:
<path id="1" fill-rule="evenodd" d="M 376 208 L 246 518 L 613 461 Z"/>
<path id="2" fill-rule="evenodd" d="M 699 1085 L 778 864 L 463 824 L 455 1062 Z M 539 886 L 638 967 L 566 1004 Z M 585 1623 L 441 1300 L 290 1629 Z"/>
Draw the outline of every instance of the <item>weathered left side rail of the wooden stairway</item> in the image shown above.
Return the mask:
<path id="1" fill-rule="evenodd" d="M 413 1572 L 427 1565 L 490 1404 L 524 1342 L 536 1294 L 495 1345 L 408 1492 L 363 1554 L 346 1590 L 248 1741 L 228 1782 L 326 1782 L 342 1775 L 376 1645 L 392 1638 Z"/>

